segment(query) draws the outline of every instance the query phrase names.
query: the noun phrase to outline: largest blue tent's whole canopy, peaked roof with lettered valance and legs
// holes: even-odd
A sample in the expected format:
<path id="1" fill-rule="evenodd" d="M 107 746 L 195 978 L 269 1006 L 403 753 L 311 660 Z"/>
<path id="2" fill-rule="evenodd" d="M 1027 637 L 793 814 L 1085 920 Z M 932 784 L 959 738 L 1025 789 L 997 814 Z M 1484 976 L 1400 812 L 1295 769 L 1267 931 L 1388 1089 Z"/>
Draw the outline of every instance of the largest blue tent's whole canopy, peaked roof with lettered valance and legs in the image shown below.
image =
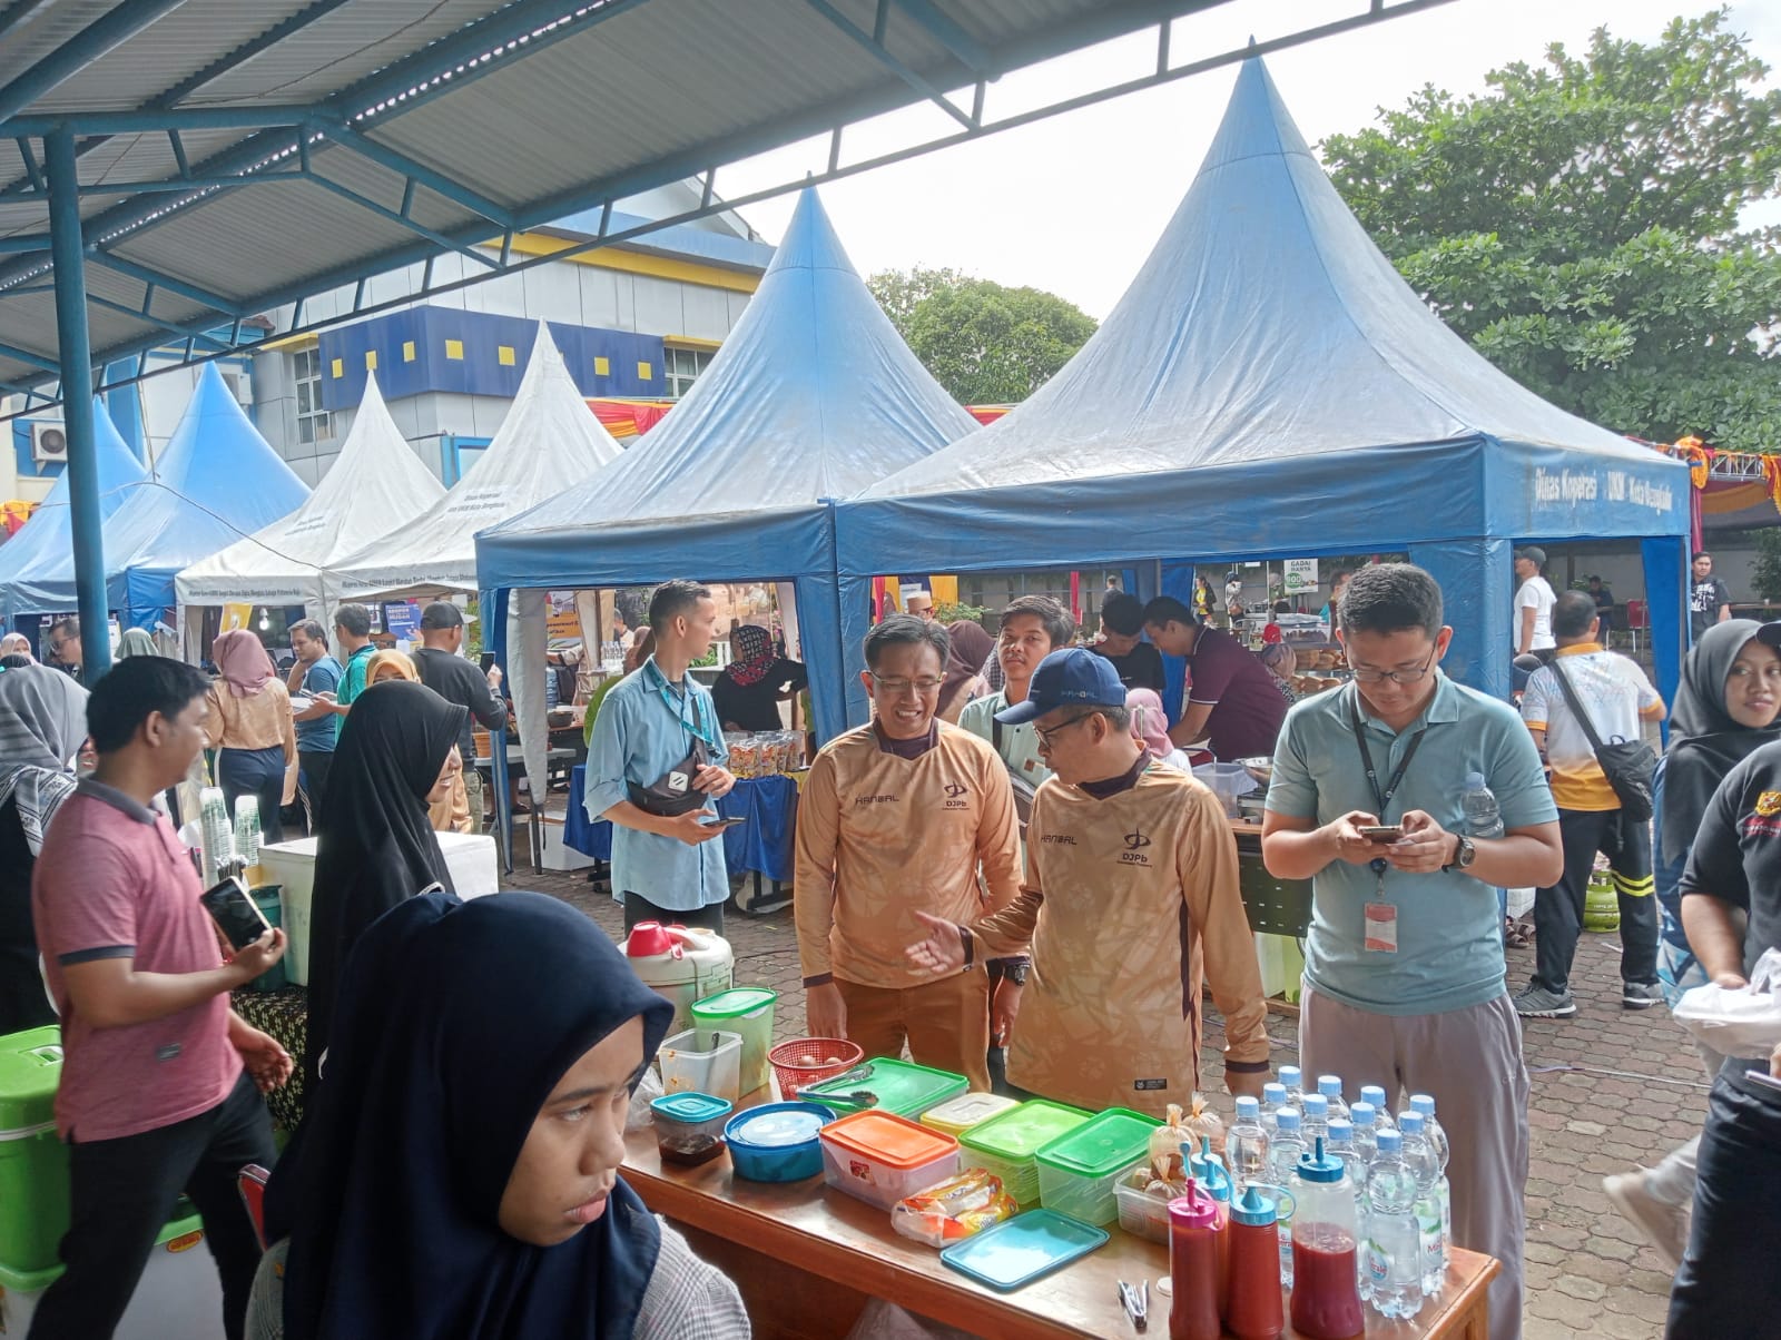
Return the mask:
<path id="1" fill-rule="evenodd" d="M 844 643 L 874 574 L 1405 549 L 1441 581 L 1446 668 L 1509 691 L 1528 540 L 1637 538 L 1660 684 L 1685 649 L 1687 470 L 1496 371 L 1350 214 L 1259 57 L 1131 289 L 1031 399 L 837 508 Z M 1184 590 L 1177 593 L 1184 595 Z M 864 695 L 850 699 L 864 718 Z"/>

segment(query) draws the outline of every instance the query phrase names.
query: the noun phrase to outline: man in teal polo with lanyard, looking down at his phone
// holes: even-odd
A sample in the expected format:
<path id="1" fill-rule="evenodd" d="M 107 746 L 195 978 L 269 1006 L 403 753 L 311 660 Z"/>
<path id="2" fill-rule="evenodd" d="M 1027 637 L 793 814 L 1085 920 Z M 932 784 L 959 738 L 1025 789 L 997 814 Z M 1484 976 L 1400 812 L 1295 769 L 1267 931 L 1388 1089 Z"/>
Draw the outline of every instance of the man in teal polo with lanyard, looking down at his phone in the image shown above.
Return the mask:
<path id="1" fill-rule="evenodd" d="M 1514 1340 L 1528 1073 L 1496 887 L 1558 878 L 1558 809 L 1514 709 L 1437 668 L 1453 629 L 1434 577 L 1362 568 L 1339 625 L 1354 684 L 1288 713 L 1261 836 L 1268 871 L 1313 889 L 1300 1064 L 1350 1091 L 1434 1096 L 1453 1151 L 1453 1244 L 1503 1263 L 1491 1336 Z M 1501 836 L 1466 832 L 1468 773 L 1496 795 Z M 1371 825 L 1402 825 L 1402 838 L 1368 839 Z"/>

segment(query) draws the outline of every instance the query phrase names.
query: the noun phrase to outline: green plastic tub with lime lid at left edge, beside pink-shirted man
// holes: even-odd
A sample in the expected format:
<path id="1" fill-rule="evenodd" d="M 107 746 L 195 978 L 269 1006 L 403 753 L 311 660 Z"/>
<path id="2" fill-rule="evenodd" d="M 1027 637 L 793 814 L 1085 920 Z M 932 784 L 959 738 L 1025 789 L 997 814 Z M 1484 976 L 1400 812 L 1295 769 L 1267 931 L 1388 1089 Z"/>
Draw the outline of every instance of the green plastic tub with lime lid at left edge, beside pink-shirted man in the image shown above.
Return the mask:
<path id="1" fill-rule="evenodd" d="M 62 1030 L 0 1037 L 0 1263 L 59 1267 L 68 1231 L 68 1146 L 55 1137 Z"/>

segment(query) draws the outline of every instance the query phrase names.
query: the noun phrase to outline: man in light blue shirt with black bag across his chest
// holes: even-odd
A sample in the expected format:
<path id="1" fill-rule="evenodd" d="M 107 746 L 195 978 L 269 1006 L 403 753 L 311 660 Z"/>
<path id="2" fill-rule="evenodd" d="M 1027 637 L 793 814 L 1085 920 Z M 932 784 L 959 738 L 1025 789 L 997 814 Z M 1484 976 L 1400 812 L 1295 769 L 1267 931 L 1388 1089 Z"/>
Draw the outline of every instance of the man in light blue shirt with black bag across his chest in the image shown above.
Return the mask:
<path id="1" fill-rule="evenodd" d="M 718 797 L 736 777 L 711 693 L 687 666 L 711 650 L 718 606 L 698 583 L 670 581 L 650 599 L 655 654 L 600 704 L 588 743 L 590 820 L 613 821 L 613 896 L 625 905 L 625 930 L 638 921 L 679 921 L 723 932 L 730 871 L 723 862 Z M 691 789 L 705 802 L 684 814 L 657 814 L 638 793 L 661 782 L 695 750 L 703 764 Z M 647 798 L 645 798 L 647 804 Z"/>

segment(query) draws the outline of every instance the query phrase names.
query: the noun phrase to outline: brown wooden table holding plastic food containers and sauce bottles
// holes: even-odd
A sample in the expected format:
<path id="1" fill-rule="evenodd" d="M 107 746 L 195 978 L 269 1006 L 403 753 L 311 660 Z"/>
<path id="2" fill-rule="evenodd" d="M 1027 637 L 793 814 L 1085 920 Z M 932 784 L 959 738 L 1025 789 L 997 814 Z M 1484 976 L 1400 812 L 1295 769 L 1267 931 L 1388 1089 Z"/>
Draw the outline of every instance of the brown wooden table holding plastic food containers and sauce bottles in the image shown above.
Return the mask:
<path id="1" fill-rule="evenodd" d="M 764 1096 L 762 1096 L 764 1101 Z M 835 1340 L 873 1297 L 992 1340 L 1136 1336 L 1118 1301 L 1120 1279 L 1151 1281 L 1145 1336 L 1168 1336 L 1168 1249 L 1108 1228 L 1106 1246 L 1012 1294 L 983 1288 L 899 1237 L 890 1215 L 823 1178 L 764 1183 L 736 1178 L 728 1156 L 698 1167 L 663 1165 L 655 1135 L 625 1137 L 625 1181 L 687 1235 L 743 1294 L 755 1340 Z M 1487 1288 L 1501 1267 L 1455 1249 L 1441 1294 L 1407 1322 L 1368 1315 L 1368 1340 L 1487 1340 Z M 1291 1326 L 1282 1333 L 1293 1336 Z"/>

